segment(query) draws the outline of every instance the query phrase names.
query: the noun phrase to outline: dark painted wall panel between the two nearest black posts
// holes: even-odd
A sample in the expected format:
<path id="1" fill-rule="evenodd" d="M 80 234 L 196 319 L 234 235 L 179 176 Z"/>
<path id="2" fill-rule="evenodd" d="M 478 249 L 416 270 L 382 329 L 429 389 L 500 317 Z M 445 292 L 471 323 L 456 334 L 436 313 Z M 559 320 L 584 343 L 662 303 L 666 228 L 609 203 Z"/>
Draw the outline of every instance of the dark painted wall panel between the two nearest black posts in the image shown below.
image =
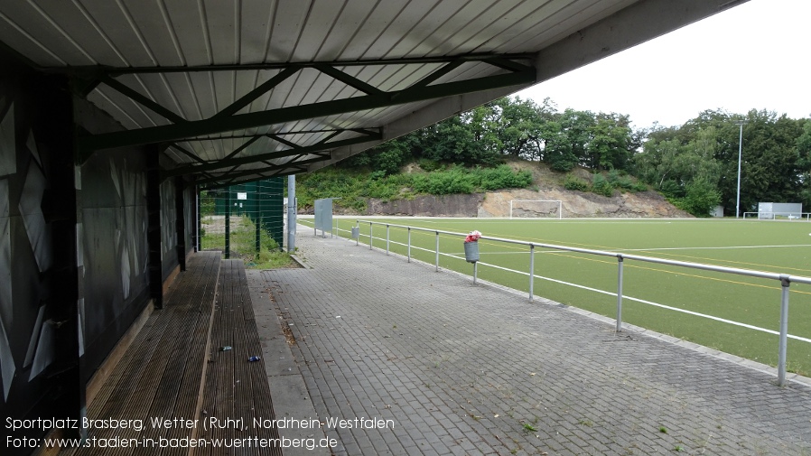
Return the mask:
<path id="1" fill-rule="evenodd" d="M 143 152 L 94 154 L 81 166 L 80 182 L 88 380 L 149 298 Z"/>

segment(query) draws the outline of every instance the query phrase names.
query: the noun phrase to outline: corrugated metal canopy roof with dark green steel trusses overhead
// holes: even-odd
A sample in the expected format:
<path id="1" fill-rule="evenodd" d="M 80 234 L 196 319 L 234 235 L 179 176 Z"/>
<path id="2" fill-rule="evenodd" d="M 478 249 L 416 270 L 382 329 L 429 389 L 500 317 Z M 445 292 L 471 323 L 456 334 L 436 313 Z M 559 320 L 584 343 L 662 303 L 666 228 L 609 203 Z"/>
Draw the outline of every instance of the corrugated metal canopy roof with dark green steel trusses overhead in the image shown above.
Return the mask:
<path id="1" fill-rule="evenodd" d="M 219 186 L 307 172 L 745 0 L 9 0 L 0 41 Z"/>

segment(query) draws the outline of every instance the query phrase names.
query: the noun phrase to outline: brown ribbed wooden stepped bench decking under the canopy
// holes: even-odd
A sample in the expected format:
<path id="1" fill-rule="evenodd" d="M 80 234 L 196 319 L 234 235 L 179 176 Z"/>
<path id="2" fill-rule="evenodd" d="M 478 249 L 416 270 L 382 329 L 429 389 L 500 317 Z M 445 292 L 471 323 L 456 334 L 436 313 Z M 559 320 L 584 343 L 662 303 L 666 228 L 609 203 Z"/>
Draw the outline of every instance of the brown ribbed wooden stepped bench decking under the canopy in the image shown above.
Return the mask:
<path id="1" fill-rule="evenodd" d="M 232 349 L 219 351 L 224 346 Z M 143 423 L 143 429 L 89 429 L 88 447 L 61 453 L 281 454 L 276 446 L 211 446 L 214 438 L 240 439 L 243 447 L 256 439 L 278 439 L 275 427 L 253 426 L 254 417 L 274 418 L 264 364 L 247 360 L 259 354 L 244 265 L 220 260 L 219 252 L 197 253 L 164 296 L 163 310 L 149 316 L 89 404 L 90 420 L 130 420 Z M 212 429 L 212 418 L 239 425 Z M 154 426 L 157 419 L 172 425 Z M 119 443 L 105 448 L 101 439 Z M 133 440 L 124 447 L 125 439 Z M 189 439 L 207 439 L 207 446 L 190 448 Z"/>

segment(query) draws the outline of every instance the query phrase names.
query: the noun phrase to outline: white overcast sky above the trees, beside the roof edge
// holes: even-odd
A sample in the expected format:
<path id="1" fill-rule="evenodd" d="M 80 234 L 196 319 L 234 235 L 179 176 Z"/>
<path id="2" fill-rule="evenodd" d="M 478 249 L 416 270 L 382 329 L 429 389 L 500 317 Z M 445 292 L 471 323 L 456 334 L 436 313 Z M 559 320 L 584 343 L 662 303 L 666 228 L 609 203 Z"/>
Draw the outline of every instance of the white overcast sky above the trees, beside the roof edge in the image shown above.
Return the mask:
<path id="1" fill-rule="evenodd" d="M 811 116 L 811 0 L 750 0 L 517 93 L 680 126 L 704 109 Z"/>

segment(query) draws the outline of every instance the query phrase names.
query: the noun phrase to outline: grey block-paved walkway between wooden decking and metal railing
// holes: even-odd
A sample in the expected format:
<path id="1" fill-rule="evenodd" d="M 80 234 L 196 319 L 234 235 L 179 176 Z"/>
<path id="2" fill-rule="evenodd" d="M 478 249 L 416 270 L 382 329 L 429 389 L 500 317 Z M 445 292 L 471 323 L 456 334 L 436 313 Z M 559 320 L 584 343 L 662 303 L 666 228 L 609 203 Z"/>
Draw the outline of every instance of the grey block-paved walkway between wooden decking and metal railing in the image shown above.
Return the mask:
<path id="1" fill-rule="evenodd" d="M 811 454 L 808 386 L 308 231 L 249 280 L 333 454 Z"/>

